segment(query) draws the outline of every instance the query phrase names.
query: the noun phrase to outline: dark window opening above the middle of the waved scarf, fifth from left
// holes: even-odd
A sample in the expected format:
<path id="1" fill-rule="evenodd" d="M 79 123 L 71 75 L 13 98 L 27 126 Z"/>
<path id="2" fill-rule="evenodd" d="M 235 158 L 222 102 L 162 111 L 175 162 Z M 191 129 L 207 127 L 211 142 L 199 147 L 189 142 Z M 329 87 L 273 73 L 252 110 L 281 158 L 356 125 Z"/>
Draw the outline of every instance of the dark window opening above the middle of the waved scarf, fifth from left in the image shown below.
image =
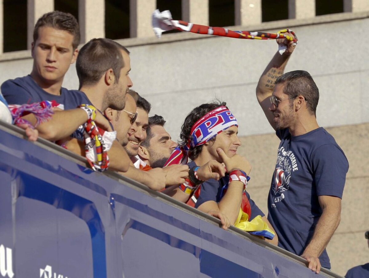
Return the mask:
<path id="1" fill-rule="evenodd" d="M 234 26 L 234 0 L 210 0 L 209 25 L 212 27 Z"/>

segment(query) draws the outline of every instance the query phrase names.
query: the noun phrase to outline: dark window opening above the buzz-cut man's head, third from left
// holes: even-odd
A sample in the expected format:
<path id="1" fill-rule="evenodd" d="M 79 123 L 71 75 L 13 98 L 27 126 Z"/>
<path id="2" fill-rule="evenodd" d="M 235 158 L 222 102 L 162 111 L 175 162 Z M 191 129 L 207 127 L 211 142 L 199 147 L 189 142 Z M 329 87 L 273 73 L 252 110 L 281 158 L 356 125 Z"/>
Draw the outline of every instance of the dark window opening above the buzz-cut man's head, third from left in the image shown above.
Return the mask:
<path id="1" fill-rule="evenodd" d="M 105 38 L 130 38 L 129 0 L 105 0 Z"/>

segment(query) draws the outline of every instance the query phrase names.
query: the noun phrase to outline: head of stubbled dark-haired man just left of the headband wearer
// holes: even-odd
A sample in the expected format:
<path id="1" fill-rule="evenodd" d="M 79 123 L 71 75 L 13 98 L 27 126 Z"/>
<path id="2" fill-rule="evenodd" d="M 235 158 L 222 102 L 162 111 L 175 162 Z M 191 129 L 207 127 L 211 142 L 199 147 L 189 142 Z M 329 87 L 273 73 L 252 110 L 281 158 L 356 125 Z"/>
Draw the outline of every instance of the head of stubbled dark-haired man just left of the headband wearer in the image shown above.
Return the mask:
<path id="1" fill-rule="evenodd" d="M 163 168 L 165 162 L 172 154 L 177 143 L 172 141 L 164 128 L 165 120 L 162 116 L 149 117 L 149 126 L 146 129 L 146 139 L 138 149 L 138 155 L 151 168 Z"/>

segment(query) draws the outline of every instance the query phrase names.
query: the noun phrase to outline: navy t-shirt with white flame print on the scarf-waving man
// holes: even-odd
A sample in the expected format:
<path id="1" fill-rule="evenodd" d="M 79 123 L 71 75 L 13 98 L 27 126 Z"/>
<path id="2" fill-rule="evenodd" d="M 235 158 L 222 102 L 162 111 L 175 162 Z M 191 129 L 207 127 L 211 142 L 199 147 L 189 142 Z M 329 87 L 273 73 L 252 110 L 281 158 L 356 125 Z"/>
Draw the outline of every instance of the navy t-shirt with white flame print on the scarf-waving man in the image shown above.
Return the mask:
<path id="1" fill-rule="evenodd" d="M 318 196 L 342 198 L 348 161 L 323 127 L 300 136 L 277 130 L 276 168 L 268 197 L 268 220 L 278 235 L 278 246 L 301 255 L 310 242 L 322 209 Z M 331 268 L 327 251 L 319 257 Z"/>

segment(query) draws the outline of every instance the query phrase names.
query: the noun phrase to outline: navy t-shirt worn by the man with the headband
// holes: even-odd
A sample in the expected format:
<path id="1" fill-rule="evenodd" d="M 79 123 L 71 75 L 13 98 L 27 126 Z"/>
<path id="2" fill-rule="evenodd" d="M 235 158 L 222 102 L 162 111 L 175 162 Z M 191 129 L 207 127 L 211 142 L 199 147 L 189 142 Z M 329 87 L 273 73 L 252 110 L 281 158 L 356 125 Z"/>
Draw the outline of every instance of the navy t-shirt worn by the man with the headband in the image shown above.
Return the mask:
<path id="1" fill-rule="evenodd" d="M 189 168 L 196 167 L 196 163 L 191 161 L 187 163 Z M 197 198 L 195 208 L 198 208 L 201 204 L 207 201 L 219 202 L 221 199 L 222 188 L 225 184 L 228 184 L 229 176 L 226 175 L 220 180 L 210 179 L 201 184 L 200 196 Z M 265 214 L 258 208 L 255 202 L 250 198 L 249 193 L 246 192 L 246 196 L 249 199 L 250 207 L 251 207 L 251 216 L 250 219 L 254 219 L 256 216 L 260 215 L 263 217 Z"/>

